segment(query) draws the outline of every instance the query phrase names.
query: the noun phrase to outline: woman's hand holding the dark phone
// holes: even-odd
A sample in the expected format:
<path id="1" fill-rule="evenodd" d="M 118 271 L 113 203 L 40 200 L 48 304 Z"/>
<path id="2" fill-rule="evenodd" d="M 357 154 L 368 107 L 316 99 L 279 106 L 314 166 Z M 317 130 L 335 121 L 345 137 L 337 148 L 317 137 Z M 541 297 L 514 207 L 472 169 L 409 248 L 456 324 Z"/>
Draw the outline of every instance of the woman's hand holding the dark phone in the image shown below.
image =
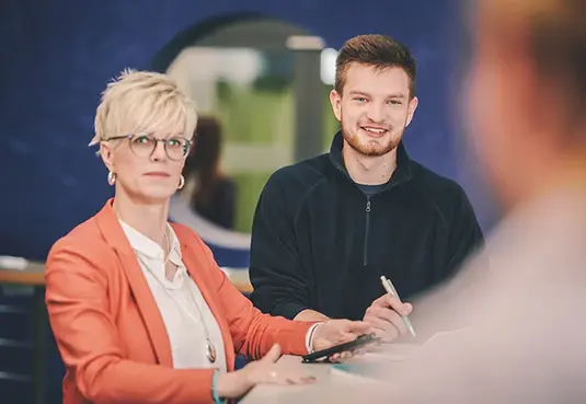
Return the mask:
<path id="1" fill-rule="evenodd" d="M 321 350 L 334 345 L 344 344 L 356 339 L 363 334 L 372 333 L 372 326 L 363 321 L 329 320 L 318 325 L 313 332 L 312 348 Z M 331 361 L 344 361 L 352 358 L 354 353 L 334 354 Z"/>

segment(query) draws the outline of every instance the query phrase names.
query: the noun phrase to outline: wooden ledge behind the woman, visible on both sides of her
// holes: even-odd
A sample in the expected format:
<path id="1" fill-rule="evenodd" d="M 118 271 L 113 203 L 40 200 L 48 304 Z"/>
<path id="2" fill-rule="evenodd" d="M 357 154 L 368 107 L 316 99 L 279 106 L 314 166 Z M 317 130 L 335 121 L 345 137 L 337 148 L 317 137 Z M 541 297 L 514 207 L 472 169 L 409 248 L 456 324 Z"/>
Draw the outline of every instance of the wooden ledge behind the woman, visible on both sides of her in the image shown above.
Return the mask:
<path id="1" fill-rule="evenodd" d="M 246 269 L 230 269 L 223 272 L 228 278 L 242 293 L 252 292 L 252 286 Z M 45 285 L 45 264 L 28 262 L 24 269 L 9 269 L 0 265 L 0 284 L 44 286 Z"/>

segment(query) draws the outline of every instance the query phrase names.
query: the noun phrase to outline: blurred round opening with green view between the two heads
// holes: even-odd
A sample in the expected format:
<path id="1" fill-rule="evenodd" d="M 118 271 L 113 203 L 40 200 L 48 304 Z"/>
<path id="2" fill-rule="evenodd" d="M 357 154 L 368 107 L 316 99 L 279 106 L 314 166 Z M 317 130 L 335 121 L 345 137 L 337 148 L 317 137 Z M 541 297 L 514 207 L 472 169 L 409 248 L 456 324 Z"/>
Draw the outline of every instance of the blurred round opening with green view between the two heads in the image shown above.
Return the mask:
<path id="1" fill-rule="evenodd" d="M 257 15 L 189 32 L 161 50 L 156 68 L 177 80 L 200 116 L 219 120 L 221 170 L 235 184 L 232 230 L 250 233 L 268 176 L 323 152 L 335 131 L 329 106 L 335 50 L 298 26 Z"/>

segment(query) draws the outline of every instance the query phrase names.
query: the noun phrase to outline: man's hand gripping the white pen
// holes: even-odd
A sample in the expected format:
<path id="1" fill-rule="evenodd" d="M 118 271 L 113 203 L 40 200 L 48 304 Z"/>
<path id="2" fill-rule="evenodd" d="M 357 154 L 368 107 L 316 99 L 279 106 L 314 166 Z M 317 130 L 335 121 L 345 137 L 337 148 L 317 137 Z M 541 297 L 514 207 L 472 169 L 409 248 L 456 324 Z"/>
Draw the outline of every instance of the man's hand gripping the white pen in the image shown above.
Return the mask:
<path id="1" fill-rule="evenodd" d="M 412 311 L 410 303 L 402 303 L 398 298 L 384 293 L 366 309 L 364 322 L 372 325 L 375 334 L 382 342 L 390 343 L 407 332 L 401 316 L 409 315 Z"/>

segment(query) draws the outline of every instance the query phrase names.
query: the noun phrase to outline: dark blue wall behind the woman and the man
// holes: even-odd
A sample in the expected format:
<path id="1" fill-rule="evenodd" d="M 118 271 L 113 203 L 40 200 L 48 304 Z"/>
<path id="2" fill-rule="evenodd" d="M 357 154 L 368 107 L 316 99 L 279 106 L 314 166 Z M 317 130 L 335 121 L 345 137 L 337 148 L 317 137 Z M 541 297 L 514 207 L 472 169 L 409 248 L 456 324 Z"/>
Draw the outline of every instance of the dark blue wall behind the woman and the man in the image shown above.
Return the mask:
<path id="1" fill-rule="evenodd" d="M 3 0 L 0 254 L 44 259 L 56 239 L 100 209 L 111 189 L 102 162 L 85 146 L 105 82 L 124 67 L 148 68 L 179 32 L 226 13 L 262 12 L 336 48 L 364 33 L 405 42 L 418 59 L 421 99 L 407 150 L 466 183 L 469 173 L 458 163 L 449 113 L 458 65 L 458 22 L 450 5 L 439 0 Z M 490 208 L 476 204 L 476 209 L 486 223 Z"/>

